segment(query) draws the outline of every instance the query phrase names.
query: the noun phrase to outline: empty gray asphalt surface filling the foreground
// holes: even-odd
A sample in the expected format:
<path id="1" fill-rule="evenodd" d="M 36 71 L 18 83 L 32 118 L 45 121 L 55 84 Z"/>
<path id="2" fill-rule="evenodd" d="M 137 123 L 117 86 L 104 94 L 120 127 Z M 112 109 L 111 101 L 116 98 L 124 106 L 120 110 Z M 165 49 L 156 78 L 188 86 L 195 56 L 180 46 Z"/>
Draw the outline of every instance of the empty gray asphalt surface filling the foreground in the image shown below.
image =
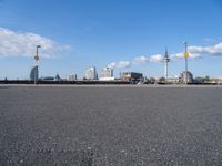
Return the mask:
<path id="1" fill-rule="evenodd" d="M 0 86 L 0 165 L 220 166 L 222 87 Z"/>

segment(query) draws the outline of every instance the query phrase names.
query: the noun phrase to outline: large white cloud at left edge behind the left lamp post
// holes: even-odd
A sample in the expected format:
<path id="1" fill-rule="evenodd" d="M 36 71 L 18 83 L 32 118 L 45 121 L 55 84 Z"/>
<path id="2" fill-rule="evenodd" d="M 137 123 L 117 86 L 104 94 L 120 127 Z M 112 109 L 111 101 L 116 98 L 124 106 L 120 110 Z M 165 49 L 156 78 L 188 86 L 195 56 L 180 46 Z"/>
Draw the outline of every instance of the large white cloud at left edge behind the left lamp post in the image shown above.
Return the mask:
<path id="1" fill-rule="evenodd" d="M 61 56 L 71 49 L 39 34 L 0 28 L 0 56 L 33 56 L 37 45 L 41 58 Z"/>

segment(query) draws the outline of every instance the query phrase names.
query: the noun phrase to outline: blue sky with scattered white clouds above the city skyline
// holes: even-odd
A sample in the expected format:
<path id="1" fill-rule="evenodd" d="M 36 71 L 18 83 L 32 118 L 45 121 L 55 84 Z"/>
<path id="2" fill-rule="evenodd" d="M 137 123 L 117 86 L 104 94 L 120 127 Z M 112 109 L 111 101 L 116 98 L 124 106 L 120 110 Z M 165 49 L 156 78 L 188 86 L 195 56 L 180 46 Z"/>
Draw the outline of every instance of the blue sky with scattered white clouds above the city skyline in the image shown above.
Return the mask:
<path id="1" fill-rule="evenodd" d="M 82 77 L 91 65 L 162 76 L 184 70 L 222 76 L 222 0 L 0 0 L 0 79 L 28 79 L 36 44 L 40 75 Z M 32 49 L 33 48 L 33 49 Z"/>

